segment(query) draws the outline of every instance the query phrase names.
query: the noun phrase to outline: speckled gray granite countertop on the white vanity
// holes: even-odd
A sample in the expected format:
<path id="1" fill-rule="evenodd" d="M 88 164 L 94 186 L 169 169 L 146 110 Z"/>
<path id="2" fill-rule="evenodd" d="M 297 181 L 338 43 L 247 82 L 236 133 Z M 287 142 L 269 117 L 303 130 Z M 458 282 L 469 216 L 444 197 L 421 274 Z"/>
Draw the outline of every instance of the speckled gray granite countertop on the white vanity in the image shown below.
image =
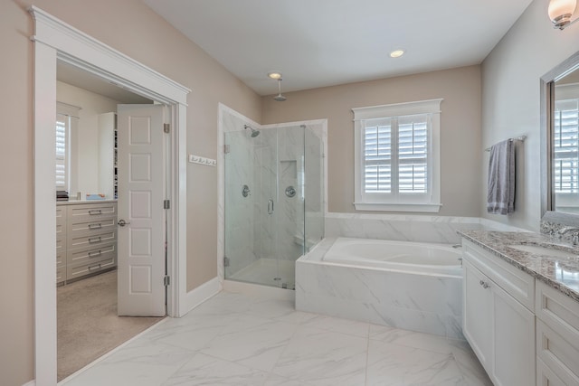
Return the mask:
<path id="1" fill-rule="evenodd" d="M 558 289 L 579 302 L 579 246 L 572 246 L 534 232 L 459 231 L 466 240 L 488 250 L 529 275 Z M 573 253 L 572 257 L 557 257 L 548 253 L 531 253 L 509 247 L 529 245 Z"/>

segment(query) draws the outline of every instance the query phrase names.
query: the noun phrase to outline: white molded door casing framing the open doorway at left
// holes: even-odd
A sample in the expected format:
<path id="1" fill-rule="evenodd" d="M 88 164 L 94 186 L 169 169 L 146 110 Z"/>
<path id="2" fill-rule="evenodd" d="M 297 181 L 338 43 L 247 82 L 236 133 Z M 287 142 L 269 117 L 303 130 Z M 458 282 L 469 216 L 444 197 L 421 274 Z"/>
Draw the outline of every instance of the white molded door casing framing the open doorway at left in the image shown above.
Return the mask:
<path id="1" fill-rule="evenodd" d="M 34 19 L 34 355 L 36 384 L 55 385 L 56 355 L 56 224 L 54 172 L 54 118 L 56 117 L 57 60 L 97 75 L 102 80 L 148 99 L 170 110 L 172 136 L 166 175 L 166 309 L 181 316 L 186 309 L 186 95 L 189 89 L 152 71 L 85 33 L 32 6 Z M 167 205 L 168 206 L 168 205 Z M 138 270 L 138 269 L 137 269 Z M 166 280 L 168 283 L 169 280 Z M 137 288 L 138 289 L 138 288 Z"/>

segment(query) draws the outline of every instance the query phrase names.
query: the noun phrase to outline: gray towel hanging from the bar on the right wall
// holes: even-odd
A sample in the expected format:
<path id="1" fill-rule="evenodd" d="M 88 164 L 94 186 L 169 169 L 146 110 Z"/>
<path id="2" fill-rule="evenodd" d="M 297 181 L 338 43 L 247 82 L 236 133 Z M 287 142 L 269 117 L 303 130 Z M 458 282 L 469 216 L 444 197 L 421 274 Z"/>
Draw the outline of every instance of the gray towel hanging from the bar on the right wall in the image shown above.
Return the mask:
<path id="1" fill-rule="evenodd" d="M 487 212 L 515 212 L 515 144 L 511 139 L 490 147 Z"/>

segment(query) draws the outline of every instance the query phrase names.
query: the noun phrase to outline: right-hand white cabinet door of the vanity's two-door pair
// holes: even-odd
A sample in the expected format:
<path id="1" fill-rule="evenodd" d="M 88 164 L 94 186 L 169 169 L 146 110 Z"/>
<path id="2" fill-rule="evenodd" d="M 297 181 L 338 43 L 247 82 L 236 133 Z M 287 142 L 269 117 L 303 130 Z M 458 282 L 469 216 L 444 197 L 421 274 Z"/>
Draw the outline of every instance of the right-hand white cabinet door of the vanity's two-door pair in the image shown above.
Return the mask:
<path id="1" fill-rule="evenodd" d="M 535 385 L 535 315 L 490 282 L 493 303 L 493 381 L 497 386 Z"/>

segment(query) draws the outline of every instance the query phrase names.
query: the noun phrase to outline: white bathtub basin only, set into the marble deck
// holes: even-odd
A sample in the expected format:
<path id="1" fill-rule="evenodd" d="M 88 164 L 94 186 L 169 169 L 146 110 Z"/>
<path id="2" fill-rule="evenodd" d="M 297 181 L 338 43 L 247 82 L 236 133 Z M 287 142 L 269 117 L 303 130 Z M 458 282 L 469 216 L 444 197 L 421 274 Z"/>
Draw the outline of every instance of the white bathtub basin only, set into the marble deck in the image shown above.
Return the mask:
<path id="1" fill-rule="evenodd" d="M 446 244 L 338 238 L 322 260 L 358 268 L 461 277 L 460 257 L 460 249 Z"/>

